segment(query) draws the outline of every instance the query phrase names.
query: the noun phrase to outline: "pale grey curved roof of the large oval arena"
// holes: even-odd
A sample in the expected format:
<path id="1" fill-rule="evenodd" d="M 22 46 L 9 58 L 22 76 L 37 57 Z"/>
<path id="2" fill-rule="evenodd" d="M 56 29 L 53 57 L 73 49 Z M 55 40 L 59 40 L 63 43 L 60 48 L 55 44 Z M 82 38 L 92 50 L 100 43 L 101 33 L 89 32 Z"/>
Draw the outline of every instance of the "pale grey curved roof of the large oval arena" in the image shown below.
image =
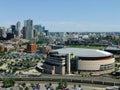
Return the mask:
<path id="1" fill-rule="evenodd" d="M 68 54 L 73 53 L 75 56 L 78 57 L 109 57 L 112 56 L 112 53 L 97 50 L 97 49 L 85 49 L 85 48 L 62 48 L 62 49 L 56 49 L 53 51 L 57 51 L 61 54 Z"/>

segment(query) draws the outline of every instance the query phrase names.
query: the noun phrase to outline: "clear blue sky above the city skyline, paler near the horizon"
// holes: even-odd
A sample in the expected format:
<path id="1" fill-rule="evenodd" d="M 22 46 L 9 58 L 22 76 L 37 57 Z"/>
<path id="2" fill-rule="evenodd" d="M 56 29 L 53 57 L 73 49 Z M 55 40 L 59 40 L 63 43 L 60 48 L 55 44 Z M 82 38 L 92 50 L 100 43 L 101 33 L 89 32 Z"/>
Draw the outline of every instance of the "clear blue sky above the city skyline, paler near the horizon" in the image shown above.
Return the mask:
<path id="1" fill-rule="evenodd" d="M 119 32 L 120 0 L 0 0 L 0 26 L 27 19 L 50 32 Z"/>

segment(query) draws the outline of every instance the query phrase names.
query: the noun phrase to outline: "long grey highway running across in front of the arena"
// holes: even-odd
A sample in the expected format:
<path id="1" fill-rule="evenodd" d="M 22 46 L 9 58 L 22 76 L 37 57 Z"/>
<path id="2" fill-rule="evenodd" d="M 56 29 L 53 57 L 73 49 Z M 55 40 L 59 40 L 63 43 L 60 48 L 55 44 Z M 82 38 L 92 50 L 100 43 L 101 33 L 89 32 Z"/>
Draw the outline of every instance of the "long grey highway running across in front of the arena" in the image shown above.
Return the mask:
<path id="1" fill-rule="evenodd" d="M 48 75 L 42 74 L 40 77 L 15 77 L 16 81 L 68 81 L 73 83 L 89 83 L 101 85 L 120 85 L 119 79 L 111 77 L 81 77 L 76 75 Z M 0 78 L 3 80 L 3 78 Z"/>

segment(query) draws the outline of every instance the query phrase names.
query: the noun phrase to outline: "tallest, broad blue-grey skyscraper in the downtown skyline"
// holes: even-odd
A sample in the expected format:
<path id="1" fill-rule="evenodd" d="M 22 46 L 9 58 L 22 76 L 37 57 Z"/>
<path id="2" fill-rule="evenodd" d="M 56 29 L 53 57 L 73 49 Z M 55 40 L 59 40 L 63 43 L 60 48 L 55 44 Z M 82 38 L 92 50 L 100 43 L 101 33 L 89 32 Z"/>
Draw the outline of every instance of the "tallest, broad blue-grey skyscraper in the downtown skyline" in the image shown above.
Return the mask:
<path id="1" fill-rule="evenodd" d="M 33 39 L 33 20 L 25 20 L 24 27 L 26 28 L 26 39 Z"/>

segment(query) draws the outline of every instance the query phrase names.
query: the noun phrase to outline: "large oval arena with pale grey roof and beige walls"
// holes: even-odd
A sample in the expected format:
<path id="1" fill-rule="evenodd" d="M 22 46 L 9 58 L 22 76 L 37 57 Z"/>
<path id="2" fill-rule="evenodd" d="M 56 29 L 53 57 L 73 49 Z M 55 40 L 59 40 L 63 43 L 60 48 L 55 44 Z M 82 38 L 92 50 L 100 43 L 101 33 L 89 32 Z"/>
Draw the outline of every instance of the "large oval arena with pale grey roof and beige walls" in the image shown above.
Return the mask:
<path id="1" fill-rule="evenodd" d="M 88 73 L 100 75 L 114 71 L 113 54 L 96 49 L 62 48 L 48 53 L 43 65 L 46 73 Z"/>

